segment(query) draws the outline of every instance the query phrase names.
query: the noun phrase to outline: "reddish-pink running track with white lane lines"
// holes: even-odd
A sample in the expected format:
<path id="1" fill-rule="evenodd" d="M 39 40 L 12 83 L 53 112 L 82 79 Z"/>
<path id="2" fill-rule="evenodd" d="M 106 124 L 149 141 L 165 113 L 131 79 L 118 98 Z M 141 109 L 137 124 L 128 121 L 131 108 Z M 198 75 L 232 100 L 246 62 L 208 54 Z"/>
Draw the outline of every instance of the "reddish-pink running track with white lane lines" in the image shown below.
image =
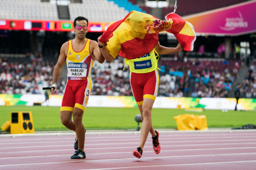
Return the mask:
<path id="1" fill-rule="evenodd" d="M 1 137 L 1 135 L 0 135 Z M 140 134 L 86 135 L 83 160 L 71 160 L 75 135 L 0 138 L 0 169 L 256 169 L 256 132 L 161 133 L 156 155 Z"/>

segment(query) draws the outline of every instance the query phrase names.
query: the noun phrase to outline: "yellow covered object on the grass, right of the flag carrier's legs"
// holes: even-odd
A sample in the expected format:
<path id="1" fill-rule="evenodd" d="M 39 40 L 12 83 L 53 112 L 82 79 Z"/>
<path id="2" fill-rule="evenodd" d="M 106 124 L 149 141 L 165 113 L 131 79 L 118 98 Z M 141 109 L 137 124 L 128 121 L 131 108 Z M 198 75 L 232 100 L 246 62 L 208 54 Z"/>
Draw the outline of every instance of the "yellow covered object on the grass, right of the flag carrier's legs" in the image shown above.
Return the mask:
<path id="1" fill-rule="evenodd" d="M 205 115 L 178 115 L 173 117 L 178 131 L 208 130 Z"/>

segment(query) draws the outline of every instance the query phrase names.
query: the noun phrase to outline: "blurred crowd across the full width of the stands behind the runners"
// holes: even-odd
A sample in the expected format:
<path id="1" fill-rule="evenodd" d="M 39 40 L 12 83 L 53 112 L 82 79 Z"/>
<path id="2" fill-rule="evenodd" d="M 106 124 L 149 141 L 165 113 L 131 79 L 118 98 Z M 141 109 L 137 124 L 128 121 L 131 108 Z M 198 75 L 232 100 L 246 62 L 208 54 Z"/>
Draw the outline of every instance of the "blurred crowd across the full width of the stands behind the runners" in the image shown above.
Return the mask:
<path id="1" fill-rule="evenodd" d="M 176 54 L 177 55 L 177 54 Z M 3 94 L 43 94 L 42 87 L 51 85 L 56 62 L 43 60 L 42 54 L 27 54 L 28 61 L 18 62 L 12 58 L 0 58 L 0 89 Z M 180 60 L 161 61 L 159 96 L 165 97 L 227 97 L 237 77 L 240 60 Z M 124 68 L 121 56 L 112 62 L 92 67 L 92 95 L 133 95 L 129 82 L 129 68 Z M 244 80 L 244 97 L 255 93 L 255 66 Z M 255 78 L 254 78 L 255 77 Z M 58 80 L 58 94 L 63 94 L 66 82 Z"/>

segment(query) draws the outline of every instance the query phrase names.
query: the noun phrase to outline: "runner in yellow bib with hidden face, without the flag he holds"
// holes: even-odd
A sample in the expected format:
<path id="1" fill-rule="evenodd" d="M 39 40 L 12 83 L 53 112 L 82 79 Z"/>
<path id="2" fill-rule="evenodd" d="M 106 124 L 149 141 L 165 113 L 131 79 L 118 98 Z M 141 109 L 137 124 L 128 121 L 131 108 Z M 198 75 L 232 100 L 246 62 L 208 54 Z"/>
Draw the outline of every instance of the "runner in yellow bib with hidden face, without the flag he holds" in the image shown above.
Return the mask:
<path id="1" fill-rule="evenodd" d="M 111 61 L 113 57 L 106 49 L 106 44 L 99 41 L 100 38 L 101 37 L 98 38 L 98 43 L 102 47 L 101 53 L 103 53 L 107 61 Z M 130 86 L 132 87 L 135 101 L 140 110 L 141 120 L 143 121 L 141 124 L 139 148 L 133 152 L 135 157 L 141 157 L 149 132 L 152 135 L 152 143 L 155 153 L 159 154 L 161 150 L 158 139 L 159 132 L 154 130 L 151 119 L 151 110 L 156 99 L 159 84 L 155 52 L 158 54 L 171 54 L 180 52 L 181 50 L 181 44 L 178 44 L 176 48 L 167 48 L 160 46 L 160 43 L 158 42 L 150 53 L 137 59 L 126 59 L 125 64 L 129 65 L 130 68 Z"/>

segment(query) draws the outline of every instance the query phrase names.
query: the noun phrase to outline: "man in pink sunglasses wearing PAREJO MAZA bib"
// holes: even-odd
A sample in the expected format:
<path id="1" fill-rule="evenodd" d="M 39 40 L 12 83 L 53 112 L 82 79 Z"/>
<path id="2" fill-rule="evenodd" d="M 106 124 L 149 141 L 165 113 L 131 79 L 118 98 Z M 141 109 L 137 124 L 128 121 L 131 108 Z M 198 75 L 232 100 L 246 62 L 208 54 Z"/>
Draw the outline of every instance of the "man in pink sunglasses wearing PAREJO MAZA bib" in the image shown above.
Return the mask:
<path id="1" fill-rule="evenodd" d="M 53 71 L 52 87 L 55 87 L 55 90 L 51 89 L 51 93 L 55 94 L 57 90 L 56 82 L 66 60 L 68 82 L 62 100 L 61 122 L 77 134 L 74 146 L 77 151 L 71 156 L 72 159 L 85 158 L 85 128 L 82 119 L 91 93 L 91 68 L 95 59 L 99 63 L 105 61 L 97 42 L 85 38 L 88 32 L 87 26 L 88 19 L 83 16 L 78 16 L 74 20 L 75 39 L 62 45 L 58 63 Z"/>

